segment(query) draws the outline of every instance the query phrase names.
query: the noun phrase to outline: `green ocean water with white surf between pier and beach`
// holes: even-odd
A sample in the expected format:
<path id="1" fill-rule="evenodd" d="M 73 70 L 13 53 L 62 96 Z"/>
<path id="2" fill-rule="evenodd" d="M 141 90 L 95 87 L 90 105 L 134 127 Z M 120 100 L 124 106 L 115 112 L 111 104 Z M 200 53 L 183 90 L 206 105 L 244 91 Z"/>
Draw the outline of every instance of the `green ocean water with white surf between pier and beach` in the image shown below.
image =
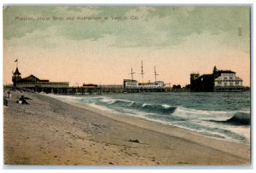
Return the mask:
<path id="1" fill-rule="evenodd" d="M 124 93 L 54 97 L 125 116 L 174 125 L 202 135 L 243 143 L 250 141 L 250 92 Z"/>

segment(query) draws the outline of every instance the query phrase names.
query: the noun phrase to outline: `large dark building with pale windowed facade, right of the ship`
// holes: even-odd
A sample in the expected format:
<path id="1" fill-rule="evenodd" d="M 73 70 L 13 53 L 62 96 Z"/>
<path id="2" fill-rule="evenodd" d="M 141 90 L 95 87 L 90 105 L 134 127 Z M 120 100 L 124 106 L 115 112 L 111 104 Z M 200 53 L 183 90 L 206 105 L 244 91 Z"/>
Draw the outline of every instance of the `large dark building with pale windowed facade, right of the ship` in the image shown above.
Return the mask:
<path id="1" fill-rule="evenodd" d="M 236 72 L 230 70 L 217 70 L 213 68 L 212 74 L 190 74 L 190 91 L 242 91 L 242 79 L 236 77 Z"/>

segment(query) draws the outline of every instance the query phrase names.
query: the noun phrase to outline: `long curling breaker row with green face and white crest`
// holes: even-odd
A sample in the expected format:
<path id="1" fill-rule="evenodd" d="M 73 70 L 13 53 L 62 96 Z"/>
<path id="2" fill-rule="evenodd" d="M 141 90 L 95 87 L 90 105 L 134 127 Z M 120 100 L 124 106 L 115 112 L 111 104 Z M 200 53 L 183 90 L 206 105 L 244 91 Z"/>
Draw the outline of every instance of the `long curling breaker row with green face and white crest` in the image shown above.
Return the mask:
<path id="1" fill-rule="evenodd" d="M 186 119 L 200 119 L 214 123 L 249 125 L 251 120 L 249 111 L 207 111 L 187 107 L 171 106 L 167 104 L 139 103 L 137 101 L 113 99 L 109 97 L 102 97 L 100 102 L 113 108 L 123 107 L 125 109 L 132 109 L 140 112 L 157 113 L 159 115 L 172 115 Z"/>

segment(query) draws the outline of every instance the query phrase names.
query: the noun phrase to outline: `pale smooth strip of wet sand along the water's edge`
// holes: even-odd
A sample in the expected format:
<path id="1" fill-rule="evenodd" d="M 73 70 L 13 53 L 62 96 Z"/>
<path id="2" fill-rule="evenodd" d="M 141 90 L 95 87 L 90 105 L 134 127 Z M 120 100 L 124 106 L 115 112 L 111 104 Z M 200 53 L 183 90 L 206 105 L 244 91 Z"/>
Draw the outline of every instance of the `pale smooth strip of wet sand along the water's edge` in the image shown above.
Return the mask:
<path id="1" fill-rule="evenodd" d="M 47 95 L 46 95 L 47 96 Z M 55 97 L 52 97 L 55 98 Z M 84 103 L 79 103 L 75 101 L 65 101 L 65 100 L 60 100 L 58 98 L 55 98 L 59 101 L 65 102 L 68 105 L 71 105 L 73 107 L 79 107 L 85 110 L 90 110 L 91 112 L 96 112 L 98 114 L 101 114 L 102 116 L 112 118 L 113 120 L 117 120 L 121 123 L 125 124 L 131 124 L 134 126 L 137 126 L 139 128 L 143 128 L 145 130 L 152 130 L 155 132 L 159 132 L 162 134 L 166 134 L 169 136 L 176 136 L 180 138 L 186 138 L 186 140 L 193 141 L 195 143 L 198 143 L 200 145 L 204 145 L 206 142 L 208 143 L 208 147 L 216 148 L 224 152 L 228 153 L 234 153 L 234 150 L 230 149 L 230 145 L 245 145 L 245 146 L 250 146 L 250 139 L 248 143 L 243 143 L 241 141 L 231 141 L 229 139 L 226 139 L 222 136 L 214 136 L 214 135 L 209 135 L 209 134 L 201 134 L 200 132 L 197 132 L 195 130 L 187 130 L 184 128 L 180 128 L 177 126 L 173 126 L 170 124 L 163 124 L 158 121 L 152 121 L 148 120 L 146 118 L 139 118 L 139 117 L 133 117 L 133 116 L 125 116 L 121 113 L 112 113 L 112 112 L 107 112 L 105 110 L 96 108 L 96 107 L 91 107 L 90 105 L 86 105 Z M 187 135 L 189 134 L 189 136 Z M 207 141 L 206 141 L 207 140 Z M 214 141 L 217 142 L 214 142 Z M 221 147 L 219 146 L 219 143 L 221 143 Z M 238 155 L 244 154 L 244 151 L 239 151 Z"/>

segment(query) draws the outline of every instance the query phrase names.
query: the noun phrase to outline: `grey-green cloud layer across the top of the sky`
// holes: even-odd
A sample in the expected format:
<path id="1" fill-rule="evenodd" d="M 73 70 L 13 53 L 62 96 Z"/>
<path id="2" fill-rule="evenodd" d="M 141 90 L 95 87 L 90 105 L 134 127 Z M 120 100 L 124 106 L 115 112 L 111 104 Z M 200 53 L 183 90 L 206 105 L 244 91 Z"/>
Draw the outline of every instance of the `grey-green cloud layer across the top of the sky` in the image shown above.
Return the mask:
<path id="1" fill-rule="evenodd" d="M 131 20 L 131 15 L 138 20 Z M 108 16 L 108 20 L 17 21 L 15 16 Z M 126 16 L 127 20 L 111 20 L 111 16 Z M 3 37 L 13 43 L 37 42 L 43 48 L 58 46 L 54 39 L 59 37 L 78 42 L 105 41 L 108 46 L 121 48 L 161 48 L 208 32 L 224 46 L 249 51 L 249 16 L 249 7 L 8 6 L 3 10 Z"/>

